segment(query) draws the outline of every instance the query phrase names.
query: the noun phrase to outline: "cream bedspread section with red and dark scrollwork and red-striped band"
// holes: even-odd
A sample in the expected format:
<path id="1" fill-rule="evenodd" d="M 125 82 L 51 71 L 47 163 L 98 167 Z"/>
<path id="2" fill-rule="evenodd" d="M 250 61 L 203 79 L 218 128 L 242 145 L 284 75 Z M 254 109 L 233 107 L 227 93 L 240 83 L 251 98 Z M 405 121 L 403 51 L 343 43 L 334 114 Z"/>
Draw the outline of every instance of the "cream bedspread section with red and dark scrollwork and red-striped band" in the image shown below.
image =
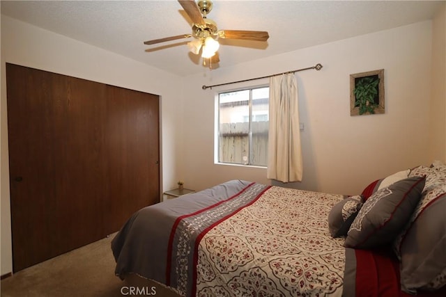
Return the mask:
<path id="1" fill-rule="evenodd" d="M 170 285 L 186 296 L 341 296 L 344 239 L 330 236 L 327 219 L 341 199 L 251 184 L 178 218 Z"/>

